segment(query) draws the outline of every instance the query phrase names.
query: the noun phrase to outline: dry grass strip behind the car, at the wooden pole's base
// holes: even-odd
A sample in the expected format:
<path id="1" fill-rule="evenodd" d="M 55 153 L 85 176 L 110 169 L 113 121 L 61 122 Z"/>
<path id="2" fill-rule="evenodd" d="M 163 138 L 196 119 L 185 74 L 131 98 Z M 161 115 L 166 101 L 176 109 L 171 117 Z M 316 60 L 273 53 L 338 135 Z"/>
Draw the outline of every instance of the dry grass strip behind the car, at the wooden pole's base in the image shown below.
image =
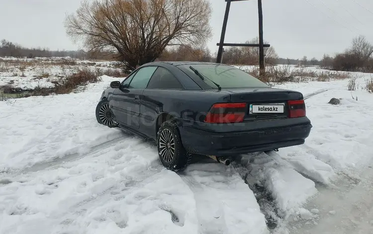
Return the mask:
<path id="1" fill-rule="evenodd" d="M 351 78 L 351 74 L 338 71 L 311 71 L 306 68 L 294 69 L 289 65 L 285 66 L 268 66 L 266 74 L 259 76 L 259 68 L 254 67 L 246 70 L 250 75 L 257 77 L 261 81 L 273 85 L 273 83 L 281 84 L 285 82 L 309 82 L 319 81 L 327 82 L 332 80 L 344 80 Z"/>

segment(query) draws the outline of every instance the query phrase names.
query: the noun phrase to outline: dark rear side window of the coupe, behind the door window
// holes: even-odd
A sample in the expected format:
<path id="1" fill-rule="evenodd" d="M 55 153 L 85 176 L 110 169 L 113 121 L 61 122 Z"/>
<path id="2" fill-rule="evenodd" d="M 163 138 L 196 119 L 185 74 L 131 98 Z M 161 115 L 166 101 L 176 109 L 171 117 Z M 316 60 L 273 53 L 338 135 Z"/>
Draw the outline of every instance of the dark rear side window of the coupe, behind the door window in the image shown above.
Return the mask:
<path id="1" fill-rule="evenodd" d="M 149 81 L 148 89 L 184 89 L 178 79 L 166 68 L 158 67 Z"/>

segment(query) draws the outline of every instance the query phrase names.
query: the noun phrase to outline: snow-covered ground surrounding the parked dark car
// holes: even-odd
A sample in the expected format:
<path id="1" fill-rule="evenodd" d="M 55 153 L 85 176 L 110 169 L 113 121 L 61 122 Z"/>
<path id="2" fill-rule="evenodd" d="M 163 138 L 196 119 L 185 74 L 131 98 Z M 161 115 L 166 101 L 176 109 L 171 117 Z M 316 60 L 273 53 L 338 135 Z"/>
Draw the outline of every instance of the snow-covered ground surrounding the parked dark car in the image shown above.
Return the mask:
<path id="1" fill-rule="evenodd" d="M 156 146 L 97 123 L 115 80 L 0 102 L 0 234 L 372 233 L 373 94 L 348 80 L 277 85 L 305 97 L 305 144 L 175 173 Z"/>

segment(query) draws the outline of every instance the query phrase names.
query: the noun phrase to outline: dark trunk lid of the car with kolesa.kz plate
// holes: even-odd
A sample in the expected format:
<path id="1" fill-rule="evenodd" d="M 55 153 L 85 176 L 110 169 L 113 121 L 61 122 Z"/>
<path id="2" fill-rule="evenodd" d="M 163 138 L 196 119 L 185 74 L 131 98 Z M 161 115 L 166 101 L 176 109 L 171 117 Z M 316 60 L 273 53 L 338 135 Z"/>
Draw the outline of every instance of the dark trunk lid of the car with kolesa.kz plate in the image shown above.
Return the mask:
<path id="1" fill-rule="evenodd" d="M 296 91 L 274 88 L 223 89 L 232 103 L 246 103 L 244 121 L 288 118 L 289 100 L 303 100 Z"/>

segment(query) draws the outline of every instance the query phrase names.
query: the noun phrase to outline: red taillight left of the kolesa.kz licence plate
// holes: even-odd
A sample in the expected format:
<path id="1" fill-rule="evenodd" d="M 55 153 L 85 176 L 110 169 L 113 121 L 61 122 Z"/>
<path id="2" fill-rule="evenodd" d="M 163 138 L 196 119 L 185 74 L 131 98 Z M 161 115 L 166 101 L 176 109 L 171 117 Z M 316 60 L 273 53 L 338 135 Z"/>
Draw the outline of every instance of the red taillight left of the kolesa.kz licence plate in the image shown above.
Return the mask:
<path id="1" fill-rule="evenodd" d="M 245 111 L 246 103 L 217 103 L 211 107 L 204 121 L 211 123 L 242 122 Z"/>

